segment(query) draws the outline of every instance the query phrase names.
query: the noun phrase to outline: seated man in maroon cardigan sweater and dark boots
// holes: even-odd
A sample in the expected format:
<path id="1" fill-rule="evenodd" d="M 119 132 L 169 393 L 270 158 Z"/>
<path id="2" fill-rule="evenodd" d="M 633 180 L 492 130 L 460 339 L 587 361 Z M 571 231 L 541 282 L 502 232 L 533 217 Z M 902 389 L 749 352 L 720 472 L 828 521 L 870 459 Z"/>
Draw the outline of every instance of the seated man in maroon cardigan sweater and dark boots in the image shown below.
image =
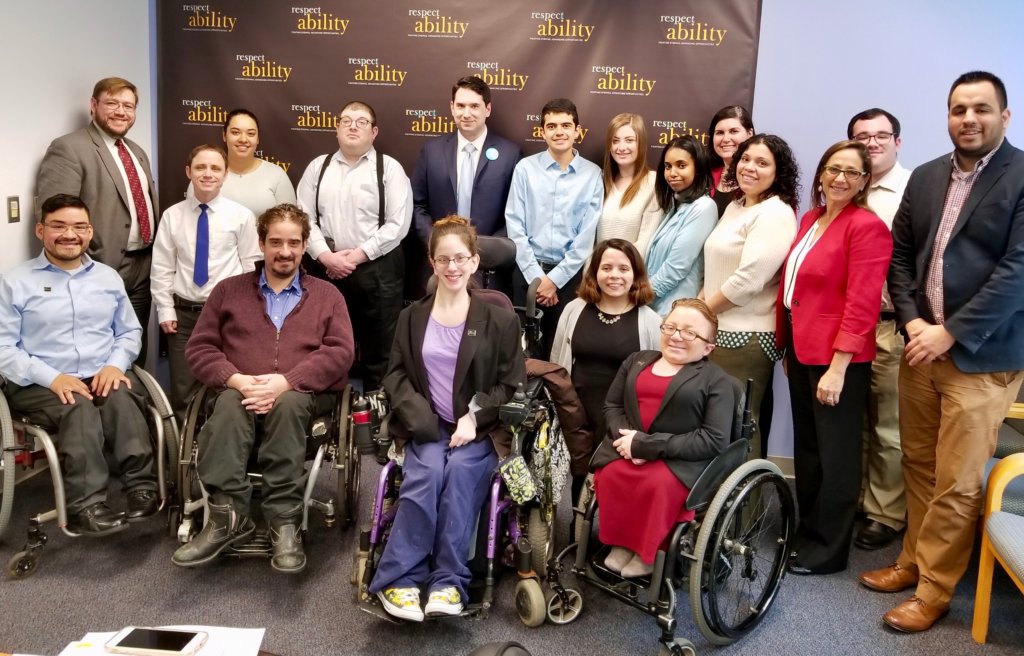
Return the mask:
<path id="1" fill-rule="evenodd" d="M 352 325 L 334 286 L 301 272 L 309 217 L 294 205 L 270 208 L 256 231 L 264 263 L 214 288 L 185 347 L 196 379 L 219 392 L 199 434 L 200 480 L 210 493 L 203 530 L 171 560 L 204 565 L 252 537 L 246 464 L 256 425 L 263 517 L 280 572 L 300 572 L 305 435 L 348 383 Z"/>

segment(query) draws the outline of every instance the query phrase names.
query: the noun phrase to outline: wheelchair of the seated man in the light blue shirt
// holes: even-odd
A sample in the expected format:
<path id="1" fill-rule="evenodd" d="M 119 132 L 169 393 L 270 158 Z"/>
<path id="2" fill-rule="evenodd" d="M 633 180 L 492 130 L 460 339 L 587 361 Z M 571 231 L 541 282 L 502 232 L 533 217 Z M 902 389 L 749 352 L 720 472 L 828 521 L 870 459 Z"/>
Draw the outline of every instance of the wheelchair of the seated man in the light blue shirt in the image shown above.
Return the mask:
<path id="1" fill-rule="evenodd" d="M 168 507 L 174 496 L 174 482 L 167 480 L 168 464 L 178 452 L 178 426 L 171 409 L 171 403 L 157 380 L 145 369 L 133 365 L 132 373 L 142 383 L 147 398 L 146 423 L 157 461 L 157 481 L 160 493 L 160 510 Z M 7 398 L 0 394 L 0 439 L 3 451 L 0 454 L 0 477 L 2 477 L 2 497 L 0 497 L 0 537 L 3 536 L 10 520 L 17 483 L 40 474 L 47 468 L 53 485 L 54 508 L 29 519 L 28 539 L 19 552 L 7 562 L 7 575 L 19 579 L 31 576 L 39 567 L 43 546 L 49 539 L 42 525 L 56 521 L 57 527 L 69 537 L 79 534 L 68 529 L 68 511 L 65 502 L 65 486 L 60 473 L 60 463 L 53 438 L 47 429 L 24 418 L 12 414 Z"/>

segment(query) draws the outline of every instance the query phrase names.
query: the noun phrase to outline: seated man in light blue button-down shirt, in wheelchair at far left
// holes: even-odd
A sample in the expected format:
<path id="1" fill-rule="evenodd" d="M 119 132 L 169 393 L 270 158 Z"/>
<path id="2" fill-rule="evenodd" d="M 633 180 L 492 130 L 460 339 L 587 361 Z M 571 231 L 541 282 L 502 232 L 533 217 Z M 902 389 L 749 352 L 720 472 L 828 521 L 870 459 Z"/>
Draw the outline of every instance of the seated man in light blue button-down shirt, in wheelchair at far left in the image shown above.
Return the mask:
<path id="1" fill-rule="evenodd" d="M 82 200 L 59 193 L 43 203 L 39 257 L 0 280 L 0 376 L 15 412 L 57 431 L 68 528 L 103 535 L 157 512 L 153 448 L 141 383 L 129 371 L 139 325 L 118 272 L 85 254 L 92 237 Z M 106 506 L 114 453 L 127 512 Z"/>

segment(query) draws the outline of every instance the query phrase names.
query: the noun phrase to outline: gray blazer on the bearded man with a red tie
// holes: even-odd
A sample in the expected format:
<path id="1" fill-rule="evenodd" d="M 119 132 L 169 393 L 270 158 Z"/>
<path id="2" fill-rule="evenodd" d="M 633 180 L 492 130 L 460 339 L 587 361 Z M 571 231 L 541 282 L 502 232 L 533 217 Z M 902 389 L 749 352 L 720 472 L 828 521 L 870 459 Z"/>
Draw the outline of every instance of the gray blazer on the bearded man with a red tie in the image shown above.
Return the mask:
<path id="1" fill-rule="evenodd" d="M 124 142 L 142 165 L 150 180 L 150 200 L 153 202 L 153 216 L 150 218 L 156 234 L 160 208 L 150 158 L 134 141 L 126 138 Z M 131 191 L 125 187 L 121 171 L 93 123 L 50 143 L 39 166 L 36 193 L 40 203 L 55 193 L 81 196 L 89 208 L 93 225 L 89 255 L 115 269 L 120 266 L 131 229 L 131 211 L 128 209 L 132 204 Z"/>

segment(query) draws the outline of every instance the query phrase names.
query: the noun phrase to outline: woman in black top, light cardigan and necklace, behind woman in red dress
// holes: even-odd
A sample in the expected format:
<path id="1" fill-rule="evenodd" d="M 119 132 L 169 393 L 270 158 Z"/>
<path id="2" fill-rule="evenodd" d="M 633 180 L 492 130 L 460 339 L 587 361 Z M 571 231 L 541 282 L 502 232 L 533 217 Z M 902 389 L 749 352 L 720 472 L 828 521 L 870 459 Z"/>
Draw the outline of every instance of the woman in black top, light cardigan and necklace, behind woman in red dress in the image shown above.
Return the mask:
<path id="1" fill-rule="evenodd" d="M 654 298 L 647 271 L 626 239 L 607 239 L 594 249 L 577 297 L 558 317 L 551 361 L 565 367 L 594 431 L 604 437 L 604 397 L 623 360 L 641 349 L 657 348 L 660 317 L 647 304 Z M 572 477 L 572 502 L 580 499 L 586 474 Z"/>

